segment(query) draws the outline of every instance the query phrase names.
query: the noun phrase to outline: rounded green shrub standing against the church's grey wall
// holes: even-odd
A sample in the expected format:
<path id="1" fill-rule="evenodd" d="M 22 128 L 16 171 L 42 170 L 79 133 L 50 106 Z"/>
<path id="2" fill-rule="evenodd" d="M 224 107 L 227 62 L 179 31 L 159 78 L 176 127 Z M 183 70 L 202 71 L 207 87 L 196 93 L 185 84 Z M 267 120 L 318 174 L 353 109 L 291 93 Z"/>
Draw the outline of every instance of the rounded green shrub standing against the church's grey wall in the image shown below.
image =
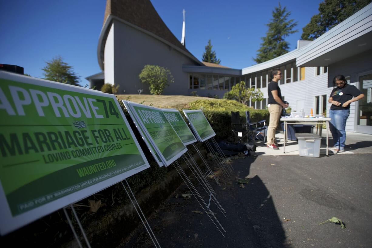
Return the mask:
<path id="1" fill-rule="evenodd" d="M 174 83 L 173 76 L 168 68 L 150 64 L 145 65 L 138 77 L 142 83 L 150 85 L 150 93 L 154 95 L 161 95 L 163 90 L 169 86 L 169 83 Z"/>

